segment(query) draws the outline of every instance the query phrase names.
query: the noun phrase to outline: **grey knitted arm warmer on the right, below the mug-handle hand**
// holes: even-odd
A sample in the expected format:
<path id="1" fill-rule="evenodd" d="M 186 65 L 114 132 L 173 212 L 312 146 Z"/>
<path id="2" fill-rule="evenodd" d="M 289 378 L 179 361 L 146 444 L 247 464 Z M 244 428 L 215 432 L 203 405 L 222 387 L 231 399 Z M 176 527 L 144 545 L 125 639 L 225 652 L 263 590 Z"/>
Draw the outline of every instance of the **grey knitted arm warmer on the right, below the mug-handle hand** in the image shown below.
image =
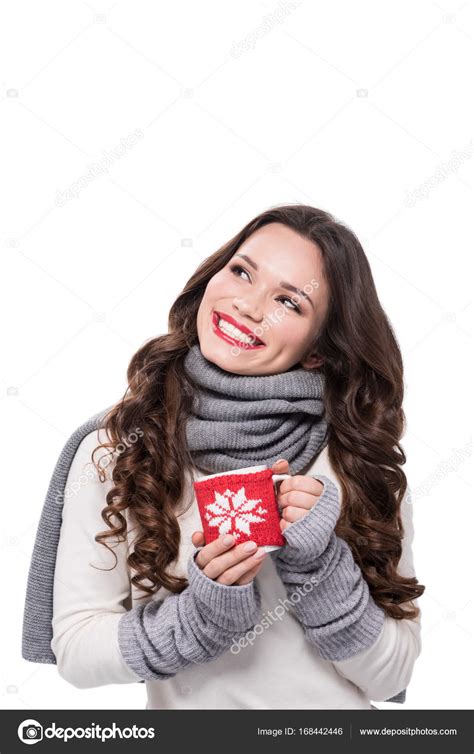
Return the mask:
<path id="1" fill-rule="evenodd" d="M 311 476 L 323 483 L 321 496 L 285 529 L 286 544 L 271 555 L 308 640 L 325 660 L 345 660 L 375 643 L 385 614 L 349 545 L 334 533 L 340 513 L 334 482 Z"/>

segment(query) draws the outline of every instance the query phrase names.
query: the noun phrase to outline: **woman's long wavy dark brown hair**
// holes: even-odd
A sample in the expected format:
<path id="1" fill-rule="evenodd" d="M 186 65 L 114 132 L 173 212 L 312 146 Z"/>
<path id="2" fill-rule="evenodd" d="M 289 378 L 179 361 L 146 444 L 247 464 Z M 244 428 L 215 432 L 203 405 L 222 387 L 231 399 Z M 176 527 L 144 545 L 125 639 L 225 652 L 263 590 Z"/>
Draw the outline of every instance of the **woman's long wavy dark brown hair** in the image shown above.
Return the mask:
<path id="1" fill-rule="evenodd" d="M 185 470 L 193 464 L 185 419 L 195 386 L 183 360 L 199 342 L 196 317 L 208 281 L 254 231 L 274 222 L 317 244 L 329 286 L 325 321 L 309 353 L 323 359 L 318 369 L 326 377 L 328 452 L 342 487 L 335 532 L 348 543 L 376 604 L 393 618 L 416 618 L 419 609 L 412 600 L 425 587 L 397 572 L 405 533 L 400 506 L 407 488 L 402 469 L 406 457 L 399 442 L 405 429 L 400 349 L 356 235 L 311 206 L 272 207 L 247 223 L 186 283 L 170 309 L 168 334 L 146 341 L 132 357 L 127 390 L 102 422 L 109 441 L 92 454 L 101 481 L 103 458 L 94 461 L 95 453 L 106 448 L 116 456 L 113 487 L 101 514 L 108 530 L 95 539 L 108 549 L 105 539 L 124 541 L 127 521 L 122 513 L 128 508 L 138 530 L 134 552 L 127 557 L 135 572 L 132 582 L 149 595 L 160 587 L 178 593 L 187 586 L 185 578 L 168 570 L 178 556 L 177 509 Z M 137 428 L 140 441 L 124 443 Z"/>

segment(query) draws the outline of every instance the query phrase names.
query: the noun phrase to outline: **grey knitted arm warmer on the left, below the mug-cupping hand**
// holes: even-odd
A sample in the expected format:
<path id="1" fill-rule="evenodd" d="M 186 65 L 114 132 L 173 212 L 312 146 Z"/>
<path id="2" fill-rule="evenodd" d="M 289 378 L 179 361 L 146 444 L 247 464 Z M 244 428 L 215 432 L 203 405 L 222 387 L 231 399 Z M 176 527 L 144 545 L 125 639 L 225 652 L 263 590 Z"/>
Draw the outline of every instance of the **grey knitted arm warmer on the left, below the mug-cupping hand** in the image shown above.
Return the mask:
<path id="1" fill-rule="evenodd" d="M 261 597 L 255 580 L 219 584 L 195 562 L 198 551 L 188 561 L 186 589 L 137 605 L 119 620 L 120 652 L 142 679 L 166 680 L 188 665 L 209 662 L 258 621 Z"/>

